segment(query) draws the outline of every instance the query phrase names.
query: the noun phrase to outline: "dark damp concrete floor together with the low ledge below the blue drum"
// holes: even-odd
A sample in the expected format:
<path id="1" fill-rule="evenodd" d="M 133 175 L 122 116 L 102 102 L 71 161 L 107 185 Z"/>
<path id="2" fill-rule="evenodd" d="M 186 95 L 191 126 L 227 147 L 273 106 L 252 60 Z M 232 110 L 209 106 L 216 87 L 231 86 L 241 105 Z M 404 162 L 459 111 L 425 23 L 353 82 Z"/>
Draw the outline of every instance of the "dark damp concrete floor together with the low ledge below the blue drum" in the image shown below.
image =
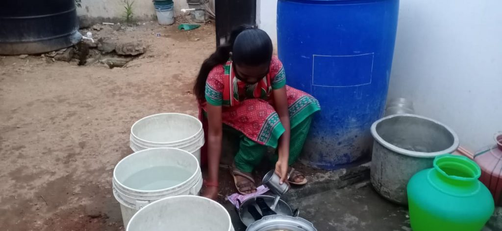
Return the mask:
<path id="1" fill-rule="evenodd" d="M 320 174 L 308 177 L 310 185 L 291 189 L 284 200 L 293 209 L 299 208 L 300 217 L 311 221 L 318 231 L 411 231 L 408 208 L 389 202 L 373 189 L 367 166 L 321 174 L 325 178 Z M 235 230 L 245 231 L 233 205 L 228 201 L 224 205 Z M 502 209 L 497 208 L 488 222 L 491 229 L 485 227 L 482 231 L 502 230 L 498 228 L 502 223 L 500 216 Z"/>

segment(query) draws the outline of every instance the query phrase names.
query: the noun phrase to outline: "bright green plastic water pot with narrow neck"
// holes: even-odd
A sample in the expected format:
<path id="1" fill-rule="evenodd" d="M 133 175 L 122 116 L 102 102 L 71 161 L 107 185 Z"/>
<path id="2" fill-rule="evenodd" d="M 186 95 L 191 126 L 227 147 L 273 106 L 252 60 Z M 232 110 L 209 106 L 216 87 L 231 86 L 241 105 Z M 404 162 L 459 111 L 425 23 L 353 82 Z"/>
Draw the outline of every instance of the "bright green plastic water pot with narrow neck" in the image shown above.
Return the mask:
<path id="1" fill-rule="evenodd" d="M 489 190 L 478 178 L 479 166 L 465 156 L 440 155 L 434 167 L 408 183 L 414 231 L 479 231 L 493 213 Z"/>

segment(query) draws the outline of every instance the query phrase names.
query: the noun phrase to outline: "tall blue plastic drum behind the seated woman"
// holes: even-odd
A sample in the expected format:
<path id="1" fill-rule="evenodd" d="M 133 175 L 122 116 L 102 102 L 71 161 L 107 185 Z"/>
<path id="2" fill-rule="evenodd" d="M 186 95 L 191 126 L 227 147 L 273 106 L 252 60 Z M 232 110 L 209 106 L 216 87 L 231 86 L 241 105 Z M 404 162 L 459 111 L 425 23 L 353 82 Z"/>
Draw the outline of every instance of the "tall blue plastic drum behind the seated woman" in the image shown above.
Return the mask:
<path id="1" fill-rule="evenodd" d="M 302 161 L 335 169 L 368 156 L 385 109 L 399 0 L 279 0 L 279 57 L 289 85 L 315 96 Z"/>

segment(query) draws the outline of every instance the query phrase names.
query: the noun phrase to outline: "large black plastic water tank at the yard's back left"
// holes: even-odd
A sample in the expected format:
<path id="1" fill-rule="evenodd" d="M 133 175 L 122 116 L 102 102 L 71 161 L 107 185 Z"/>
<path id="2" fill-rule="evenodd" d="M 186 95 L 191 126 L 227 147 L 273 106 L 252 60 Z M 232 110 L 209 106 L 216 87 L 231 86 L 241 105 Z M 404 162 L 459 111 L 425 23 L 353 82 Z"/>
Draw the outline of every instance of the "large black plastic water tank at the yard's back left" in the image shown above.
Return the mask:
<path id="1" fill-rule="evenodd" d="M 75 0 L 0 0 L 0 54 L 44 53 L 81 39 Z"/>

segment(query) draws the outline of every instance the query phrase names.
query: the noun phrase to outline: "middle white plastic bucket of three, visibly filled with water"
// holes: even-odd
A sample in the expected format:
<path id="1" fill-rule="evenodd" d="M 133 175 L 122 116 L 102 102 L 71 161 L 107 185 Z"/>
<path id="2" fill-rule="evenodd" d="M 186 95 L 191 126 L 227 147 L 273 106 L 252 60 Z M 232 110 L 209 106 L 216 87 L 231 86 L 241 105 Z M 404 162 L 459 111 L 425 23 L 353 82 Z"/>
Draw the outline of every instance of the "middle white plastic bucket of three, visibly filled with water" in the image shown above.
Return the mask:
<path id="1" fill-rule="evenodd" d="M 174 195 L 198 195 L 202 187 L 199 162 L 190 152 L 158 147 L 135 152 L 113 170 L 112 188 L 126 226 L 147 204 Z"/>

